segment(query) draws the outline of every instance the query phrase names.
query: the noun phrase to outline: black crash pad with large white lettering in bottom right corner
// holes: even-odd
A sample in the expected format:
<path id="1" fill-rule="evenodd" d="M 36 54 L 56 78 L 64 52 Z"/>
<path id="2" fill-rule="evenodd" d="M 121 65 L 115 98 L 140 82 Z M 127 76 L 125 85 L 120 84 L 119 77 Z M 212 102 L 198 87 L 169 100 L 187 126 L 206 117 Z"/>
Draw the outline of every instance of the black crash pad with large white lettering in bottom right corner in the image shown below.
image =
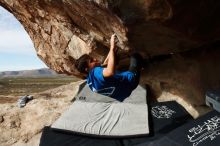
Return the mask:
<path id="1" fill-rule="evenodd" d="M 135 146 L 219 146 L 220 113 L 211 111 L 193 120 L 164 137 Z"/>

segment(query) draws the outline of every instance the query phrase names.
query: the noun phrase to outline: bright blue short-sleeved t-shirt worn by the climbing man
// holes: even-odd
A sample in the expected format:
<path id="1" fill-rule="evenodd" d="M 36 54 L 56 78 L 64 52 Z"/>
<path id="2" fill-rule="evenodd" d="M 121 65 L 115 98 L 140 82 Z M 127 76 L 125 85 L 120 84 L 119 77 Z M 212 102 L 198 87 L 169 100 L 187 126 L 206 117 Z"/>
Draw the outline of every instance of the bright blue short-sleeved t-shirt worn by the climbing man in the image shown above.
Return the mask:
<path id="1" fill-rule="evenodd" d="M 130 71 L 116 72 L 112 77 L 103 77 L 103 67 L 95 67 L 87 76 L 87 84 L 94 92 L 123 101 L 137 87 L 136 74 Z"/>

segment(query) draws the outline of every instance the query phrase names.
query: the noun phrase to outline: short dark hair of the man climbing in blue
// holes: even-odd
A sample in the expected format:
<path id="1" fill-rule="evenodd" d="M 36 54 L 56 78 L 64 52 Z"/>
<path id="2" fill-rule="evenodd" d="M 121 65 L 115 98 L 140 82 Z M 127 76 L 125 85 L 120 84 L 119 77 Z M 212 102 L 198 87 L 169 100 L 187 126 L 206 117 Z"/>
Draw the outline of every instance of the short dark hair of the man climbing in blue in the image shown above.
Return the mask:
<path id="1" fill-rule="evenodd" d="M 88 73 L 86 69 L 88 69 L 90 58 L 91 57 L 88 54 L 84 54 L 76 60 L 75 67 L 80 73 Z"/>

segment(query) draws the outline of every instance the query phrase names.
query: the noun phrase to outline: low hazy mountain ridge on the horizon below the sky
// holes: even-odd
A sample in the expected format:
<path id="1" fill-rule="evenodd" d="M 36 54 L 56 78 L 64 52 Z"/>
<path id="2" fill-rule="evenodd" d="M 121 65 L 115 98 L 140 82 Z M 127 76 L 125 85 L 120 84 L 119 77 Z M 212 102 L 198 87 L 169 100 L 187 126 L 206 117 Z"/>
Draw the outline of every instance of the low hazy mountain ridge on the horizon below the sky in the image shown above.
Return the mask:
<path id="1" fill-rule="evenodd" d="M 42 68 L 36 70 L 21 70 L 21 71 L 3 71 L 0 72 L 0 78 L 3 77 L 53 77 L 53 76 L 61 76 L 57 74 L 55 71 Z"/>

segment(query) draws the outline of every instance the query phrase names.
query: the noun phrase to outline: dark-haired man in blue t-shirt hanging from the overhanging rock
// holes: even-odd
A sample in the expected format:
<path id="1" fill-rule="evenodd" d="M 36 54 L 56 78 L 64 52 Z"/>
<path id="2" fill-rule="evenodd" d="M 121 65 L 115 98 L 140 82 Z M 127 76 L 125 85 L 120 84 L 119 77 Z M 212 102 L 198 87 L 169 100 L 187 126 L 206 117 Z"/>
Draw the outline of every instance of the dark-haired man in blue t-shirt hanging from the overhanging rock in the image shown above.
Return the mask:
<path id="1" fill-rule="evenodd" d="M 103 64 L 84 54 L 77 59 L 75 67 L 79 72 L 87 75 L 87 84 L 92 91 L 123 101 L 139 83 L 142 57 L 138 53 L 132 54 L 129 70 L 116 71 L 115 39 L 116 35 L 114 34 L 111 36 L 110 50 Z"/>

